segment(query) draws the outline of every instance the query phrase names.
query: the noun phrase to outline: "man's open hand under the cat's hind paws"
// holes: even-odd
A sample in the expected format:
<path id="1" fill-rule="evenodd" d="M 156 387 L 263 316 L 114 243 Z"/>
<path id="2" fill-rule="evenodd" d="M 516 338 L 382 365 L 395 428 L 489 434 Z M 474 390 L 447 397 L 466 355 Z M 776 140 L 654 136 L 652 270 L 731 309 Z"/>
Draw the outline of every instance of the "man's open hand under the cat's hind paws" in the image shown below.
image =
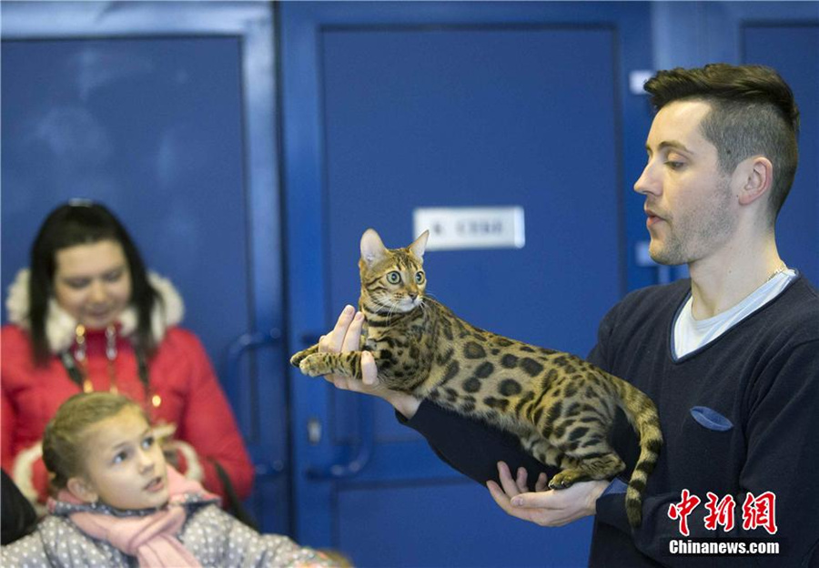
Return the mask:
<path id="1" fill-rule="evenodd" d="M 511 516 L 541 526 L 563 526 L 593 515 L 597 498 L 608 485 L 608 482 L 579 482 L 568 489 L 544 491 L 548 480 L 541 473 L 535 492 L 529 492 L 525 469 L 519 469 L 517 477 L 512 479 L 509 466 L 498 462 L 498 473 L 502 489 L 496 482 L 486 483 L 492 499 Z"/>

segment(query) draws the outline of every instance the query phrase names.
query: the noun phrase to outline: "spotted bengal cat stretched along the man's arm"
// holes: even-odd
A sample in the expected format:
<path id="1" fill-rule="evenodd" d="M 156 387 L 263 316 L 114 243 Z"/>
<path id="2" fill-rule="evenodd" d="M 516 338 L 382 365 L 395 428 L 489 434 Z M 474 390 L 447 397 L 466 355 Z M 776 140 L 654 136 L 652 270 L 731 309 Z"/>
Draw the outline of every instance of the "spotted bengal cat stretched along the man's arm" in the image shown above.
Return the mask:
<path id="1" fill-rule="evenodd" d="M 585 360 L 480 330 L 426 297 L 428 237 L 426 231 L 406 249 L 386 249 L 371 228 L 361 238 L 362 349 L 372 352 L 379 382 L 511 431 L 537 460 L 561 469 L 551 489 L 622 472 L 607 441 L 620 407 L 640 436 L 626 492 L 629 522 L 639 526 L 642 493 L 662 446 L 652 401 Z M 290 362 L 312 377 L 361 378 L 360 351 L 319 353 L 314 345 Z"/>

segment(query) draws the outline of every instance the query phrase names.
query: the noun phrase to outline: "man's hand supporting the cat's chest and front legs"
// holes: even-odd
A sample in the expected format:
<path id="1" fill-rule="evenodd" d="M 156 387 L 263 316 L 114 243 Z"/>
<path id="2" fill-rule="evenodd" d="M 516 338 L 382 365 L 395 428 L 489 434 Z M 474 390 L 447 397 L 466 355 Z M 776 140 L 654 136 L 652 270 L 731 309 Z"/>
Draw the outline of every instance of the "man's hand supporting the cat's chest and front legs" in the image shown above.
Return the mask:
<path id="1" fill-rule="evenodd" d="M 341 311 L 336 327 L 319 340 L 320 353 L 344 353 L 358 351 L 361 340 L 361 327 L 364 325 L 364 314 L 347 306 Z M 372 353 L 361 353 L 361 380 L 343 375 L 328 375 L 324 378 L 342 391 L 363 392 L 388 401 L 397 411 L 410 419 L 418 411 L 420 401 L 410 394 L 390 391 L 379 383 L 379 370 Z"/>

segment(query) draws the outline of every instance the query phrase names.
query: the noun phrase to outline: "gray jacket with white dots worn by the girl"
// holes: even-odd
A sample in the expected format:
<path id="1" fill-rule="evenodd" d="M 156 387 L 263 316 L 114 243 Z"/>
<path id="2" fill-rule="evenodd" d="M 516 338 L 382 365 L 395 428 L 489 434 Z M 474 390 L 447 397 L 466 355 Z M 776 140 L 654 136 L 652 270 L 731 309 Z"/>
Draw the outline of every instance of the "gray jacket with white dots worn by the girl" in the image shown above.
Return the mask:
<path id="1" fill-rule="evenodd" d="M 285 568 L 336 565 L 323 554 L 298 546 L 286 536 L 257 533 L 219 509 L 213 501 L 204 501 L 190 494 L 185 506 L 187 520 L 178 538 L 202 566 Z M 35 533 L 3 547 L 0 565 L 9 568 L 137 566 L 135 556 L 88 536 L 67 516 L 72 512 L 90 510 L 87 505 L 57 502 L 54 513 L 40 522 Z M 138 514 L 105 506 L 98 506 L 93 511 L 117 516 Z"/>

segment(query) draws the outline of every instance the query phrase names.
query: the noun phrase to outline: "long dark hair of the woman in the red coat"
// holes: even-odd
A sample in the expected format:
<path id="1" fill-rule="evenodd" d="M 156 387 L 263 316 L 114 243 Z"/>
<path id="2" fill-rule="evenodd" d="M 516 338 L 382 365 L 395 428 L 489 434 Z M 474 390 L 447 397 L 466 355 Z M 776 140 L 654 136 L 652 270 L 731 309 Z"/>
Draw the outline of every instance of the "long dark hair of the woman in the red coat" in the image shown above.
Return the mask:
<path id="1" fill-rule="evenodd" d="M 45 321 L 48 300 L 54 294 L 56 252 L 76 245 L 113 240 L 122 247 L 131 273 L 131 302 L 136 309 L 135 347 L 147 354 L 156 350 L 151 334 L 151 312 L 159 300 L 147 279 L 147 270 L 126 228 L 111 211 L 99 203 L 75 199 L 49 213 L 31 247 L 31 278 L 28 281 L 29 320 L 34 357 L 45 363 L 51 356 Z"/>

